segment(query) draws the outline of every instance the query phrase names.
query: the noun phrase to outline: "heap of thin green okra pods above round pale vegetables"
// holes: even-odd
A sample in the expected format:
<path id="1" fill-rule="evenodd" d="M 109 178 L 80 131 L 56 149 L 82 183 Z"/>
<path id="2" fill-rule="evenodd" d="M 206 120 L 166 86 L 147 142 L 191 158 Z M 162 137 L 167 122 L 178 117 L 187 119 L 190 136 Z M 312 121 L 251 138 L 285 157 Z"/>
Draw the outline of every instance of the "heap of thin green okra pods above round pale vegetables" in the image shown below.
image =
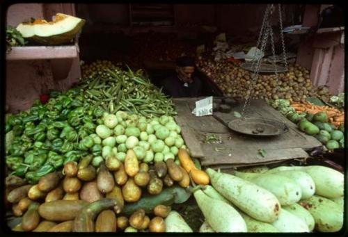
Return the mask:
<path id="1" fill-rule="evenodd" d="M 150 83 L 141 70 L 120 70 L 108 61 L 86 66 L 80 79 L 85 98 L 104 111 L 128 111 L 149 117 L 176 115 L 174 104 L 161 90 Z"/>

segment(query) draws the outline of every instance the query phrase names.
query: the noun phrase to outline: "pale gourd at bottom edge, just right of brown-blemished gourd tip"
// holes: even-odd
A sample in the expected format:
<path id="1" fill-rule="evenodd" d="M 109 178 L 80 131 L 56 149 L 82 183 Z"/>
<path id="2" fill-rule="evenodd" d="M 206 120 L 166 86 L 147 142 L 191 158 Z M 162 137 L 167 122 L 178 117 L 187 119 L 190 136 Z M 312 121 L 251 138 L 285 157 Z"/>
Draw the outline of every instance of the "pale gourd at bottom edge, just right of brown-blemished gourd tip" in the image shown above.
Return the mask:
<path id="1" fill-rule="evenodd" d="M 280 232 L 309 232 L 306 222 L 285 209 L 280 209 L 278 219 L 271 224 Z"/>

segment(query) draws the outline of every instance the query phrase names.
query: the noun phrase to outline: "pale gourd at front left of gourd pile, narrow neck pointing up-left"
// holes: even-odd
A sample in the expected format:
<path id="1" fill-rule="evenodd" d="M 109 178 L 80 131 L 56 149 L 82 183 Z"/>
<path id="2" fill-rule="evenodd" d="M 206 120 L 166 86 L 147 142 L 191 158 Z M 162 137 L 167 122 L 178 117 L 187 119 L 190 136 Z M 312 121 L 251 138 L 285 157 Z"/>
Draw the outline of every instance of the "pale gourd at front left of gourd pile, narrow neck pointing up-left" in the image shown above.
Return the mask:
<path id="1" fill-rule="evenodd" d="M 193 193 L 196 202 L 207 219 L 208 224 L 216 232 L 246 232 L 246 224 L 241 215 L 226 202 L 212 199 L 196 190 Z"/>

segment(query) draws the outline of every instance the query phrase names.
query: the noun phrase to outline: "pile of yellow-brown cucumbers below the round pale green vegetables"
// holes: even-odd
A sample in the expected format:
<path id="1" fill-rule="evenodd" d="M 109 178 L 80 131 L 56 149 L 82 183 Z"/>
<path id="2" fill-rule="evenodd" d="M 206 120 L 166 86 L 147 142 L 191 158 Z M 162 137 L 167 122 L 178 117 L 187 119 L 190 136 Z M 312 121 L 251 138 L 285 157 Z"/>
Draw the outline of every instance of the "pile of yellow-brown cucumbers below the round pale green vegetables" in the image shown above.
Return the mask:
<path id="1" fill-rule="evenodd" d="M 16 217 L 22 217 L 11 229 L 166 231 L 163 218 L 171 211 L 169 206 L 155 206 L 152 220 L 141 208 L 134 213 L 122 210 L 126 204 L 136 204 L 144 194 L 157 195 L 175 183 L 187 188 L 189 174 L 180 165 L 171 158 L 150 166 L 139 163 L 132 149 L 125 163 L 106 161 L 96 169 L 90 161 L 88 157 L 79 163 L 69 161 L 63 170 L 41 177 L 35 185 L 19 177 L 7 177 L 6 207 Z"/>

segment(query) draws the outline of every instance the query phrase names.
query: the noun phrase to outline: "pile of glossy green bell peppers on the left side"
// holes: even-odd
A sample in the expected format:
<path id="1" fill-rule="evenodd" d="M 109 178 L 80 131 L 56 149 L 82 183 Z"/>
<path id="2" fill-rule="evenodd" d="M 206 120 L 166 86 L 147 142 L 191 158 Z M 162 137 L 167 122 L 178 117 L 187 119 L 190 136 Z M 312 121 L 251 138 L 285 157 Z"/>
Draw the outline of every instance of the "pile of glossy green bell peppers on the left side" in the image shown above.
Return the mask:
<path id="1" fill-rule="evenodd" d="M 68 161 L 101 154 L 102 147 L 89 135 L 104 113 L 102 108 L 88 104 L 80 88 L 49 95 L 46 104 L 35 99 L 30 110 L 6 115 L 6 133 L 12 131 L 15 137 L 6 147 L 6 165 L 29 183 L 37 183 Z"/>

